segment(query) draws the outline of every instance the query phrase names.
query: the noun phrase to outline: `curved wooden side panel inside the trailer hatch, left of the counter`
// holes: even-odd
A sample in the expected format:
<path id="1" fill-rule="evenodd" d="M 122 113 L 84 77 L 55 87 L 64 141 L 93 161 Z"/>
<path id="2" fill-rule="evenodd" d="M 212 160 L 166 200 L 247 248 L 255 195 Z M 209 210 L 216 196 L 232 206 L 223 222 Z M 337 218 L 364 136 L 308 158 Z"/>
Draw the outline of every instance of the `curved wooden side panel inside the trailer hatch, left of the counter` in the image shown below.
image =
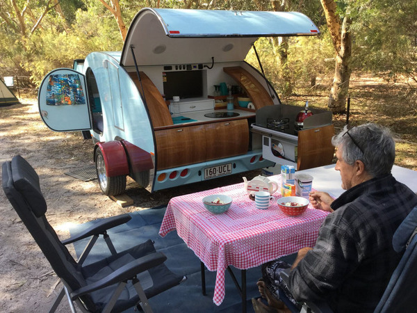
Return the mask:
<path id="1" fill-rule="evenodd" d="M 140 94 L 142 95 L 142 87 L 136 72 L 129 72 L 129 76 L 136 84 Z M 147 74 L 140 72 L 140 79 L 142 81 L 143 90 L 145 91 L 145 98 L 149 115 L 151 115 L 152 125 L 155 127 L 174 125 L 172 122 L 170 110 L 159 92 L 158 88 L 147 77 Z"/>

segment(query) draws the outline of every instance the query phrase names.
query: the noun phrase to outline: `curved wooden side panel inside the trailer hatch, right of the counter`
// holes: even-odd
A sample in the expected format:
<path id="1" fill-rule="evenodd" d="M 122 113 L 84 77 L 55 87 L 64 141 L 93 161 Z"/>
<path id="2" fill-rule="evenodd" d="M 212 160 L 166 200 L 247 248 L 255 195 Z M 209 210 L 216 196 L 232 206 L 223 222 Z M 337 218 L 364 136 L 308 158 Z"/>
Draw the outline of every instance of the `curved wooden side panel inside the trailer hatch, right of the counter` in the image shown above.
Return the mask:
<path id="1" fill-rule="evenodd" d="M 259 83 L 250 72 L 243 69 L 243 67 L 223 67 L 223 71 L 233 77 L 245 90 L 250 99 L 252 99 L 252 103 L 256 110 L 262 106 L 271 106 L 274 104 L 268 91 L 263 88 L 261 83 Z"/>

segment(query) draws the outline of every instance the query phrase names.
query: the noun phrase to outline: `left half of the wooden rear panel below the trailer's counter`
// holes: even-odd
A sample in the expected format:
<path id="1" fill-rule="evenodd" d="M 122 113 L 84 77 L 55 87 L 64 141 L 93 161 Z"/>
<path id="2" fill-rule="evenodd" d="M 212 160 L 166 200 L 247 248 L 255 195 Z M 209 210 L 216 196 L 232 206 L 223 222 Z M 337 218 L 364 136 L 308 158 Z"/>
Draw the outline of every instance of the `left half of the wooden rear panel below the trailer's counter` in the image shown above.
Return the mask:
<path id="1" fill-rule="evenodd" d="M 158 170 L 206 161 L 204 125 L 155 131 Z"/>

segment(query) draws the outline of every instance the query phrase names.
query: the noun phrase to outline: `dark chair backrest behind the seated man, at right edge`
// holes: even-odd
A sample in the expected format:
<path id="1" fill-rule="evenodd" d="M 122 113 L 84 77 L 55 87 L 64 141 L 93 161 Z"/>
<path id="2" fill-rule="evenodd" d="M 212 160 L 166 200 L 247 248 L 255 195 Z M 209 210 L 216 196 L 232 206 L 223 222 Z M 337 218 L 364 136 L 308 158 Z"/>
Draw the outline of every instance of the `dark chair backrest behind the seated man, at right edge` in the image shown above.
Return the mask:
<path id="1" fill-rule="evenodd" d="M 409 213 L 393 236 L 395 252 L 404 253 L 391 276 L 375 312 L 414 312 L 417 289 L 417 207 Z"/>

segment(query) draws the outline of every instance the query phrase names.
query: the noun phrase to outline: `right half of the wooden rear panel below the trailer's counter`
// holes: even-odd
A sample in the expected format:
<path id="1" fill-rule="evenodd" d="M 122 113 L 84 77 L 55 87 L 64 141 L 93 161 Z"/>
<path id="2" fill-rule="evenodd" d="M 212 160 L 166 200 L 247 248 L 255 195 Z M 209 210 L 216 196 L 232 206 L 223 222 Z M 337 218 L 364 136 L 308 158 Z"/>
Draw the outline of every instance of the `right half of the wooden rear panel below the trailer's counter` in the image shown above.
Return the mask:
<path id="1" fill-rule="evenodd" d="M 215 122 L 206 128 L 207 161 L 245 154 L 249 146 L 247 120 Z"/>

